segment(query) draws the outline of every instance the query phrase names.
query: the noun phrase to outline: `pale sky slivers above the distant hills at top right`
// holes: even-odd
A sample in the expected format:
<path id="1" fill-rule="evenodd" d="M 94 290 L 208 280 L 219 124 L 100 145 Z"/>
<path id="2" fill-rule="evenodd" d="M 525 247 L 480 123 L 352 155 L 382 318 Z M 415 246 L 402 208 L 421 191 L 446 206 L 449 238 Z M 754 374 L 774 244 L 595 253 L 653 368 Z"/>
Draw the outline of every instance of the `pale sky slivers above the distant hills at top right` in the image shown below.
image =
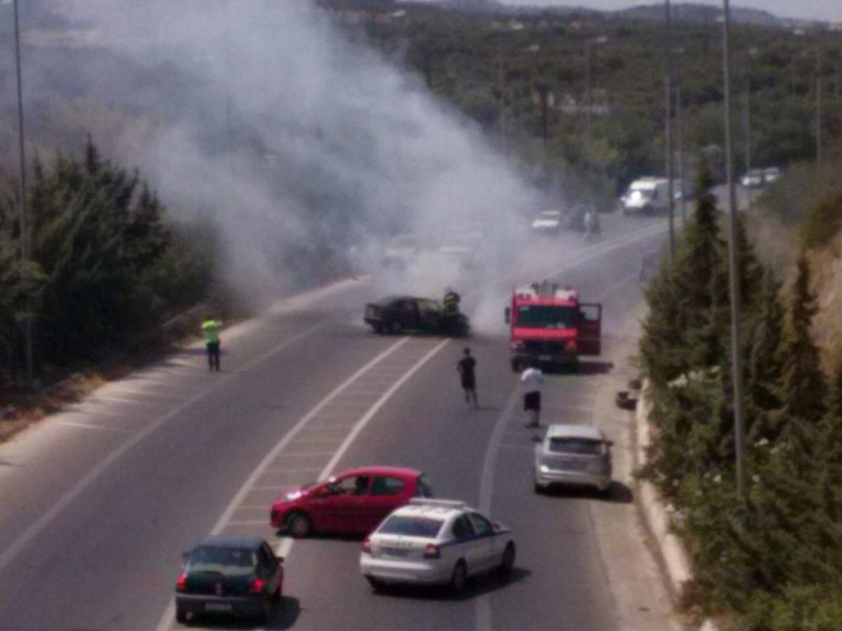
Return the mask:
<path id="1" fill-rule="evenodd" d="M 627 9 L 637 4 L 652 3 L 646 0 L 629 2 L 628 0 L 499 0 L 512 5 L 545 5 L 545 7 L 588 7 L 613 11 Z M 692 0 L 698 4 L 721 5 L 721 0 Z M 806 20 L 830 20 L 842 22 L 842 0 L 741 0 L 731 2 L 732 7 L 762 9 L 780 18 L 798 18 Z"/>

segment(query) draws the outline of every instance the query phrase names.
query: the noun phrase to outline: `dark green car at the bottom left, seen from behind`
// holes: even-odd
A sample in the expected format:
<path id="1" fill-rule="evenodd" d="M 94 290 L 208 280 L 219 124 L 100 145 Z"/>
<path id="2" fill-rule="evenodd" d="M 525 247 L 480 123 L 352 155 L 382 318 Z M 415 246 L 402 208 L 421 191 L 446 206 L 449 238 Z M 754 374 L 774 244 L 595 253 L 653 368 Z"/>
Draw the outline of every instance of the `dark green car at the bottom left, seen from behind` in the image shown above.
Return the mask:
<path id="1" fill-rule="evenodd" d="M 283 559 L 262 539 L 206 537 L 183 557 L 175 581 L 175 619 L 224 615 L 268 622 L 284 586 Z"/>

